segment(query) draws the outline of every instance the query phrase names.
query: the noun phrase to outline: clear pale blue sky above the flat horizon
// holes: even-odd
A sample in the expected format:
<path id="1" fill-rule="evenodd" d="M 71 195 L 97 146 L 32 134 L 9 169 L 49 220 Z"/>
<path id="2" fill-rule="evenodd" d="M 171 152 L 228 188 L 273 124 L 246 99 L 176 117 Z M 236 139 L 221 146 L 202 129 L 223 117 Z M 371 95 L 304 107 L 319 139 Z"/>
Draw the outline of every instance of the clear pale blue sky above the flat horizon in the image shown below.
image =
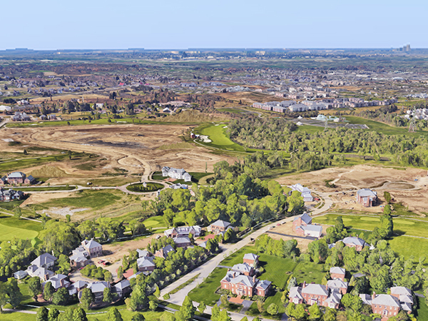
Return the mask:
<path id="1" fill-rule="evenodd" d="M 1 2 L 0 49 L 428 48 L 426 0 Z"/>

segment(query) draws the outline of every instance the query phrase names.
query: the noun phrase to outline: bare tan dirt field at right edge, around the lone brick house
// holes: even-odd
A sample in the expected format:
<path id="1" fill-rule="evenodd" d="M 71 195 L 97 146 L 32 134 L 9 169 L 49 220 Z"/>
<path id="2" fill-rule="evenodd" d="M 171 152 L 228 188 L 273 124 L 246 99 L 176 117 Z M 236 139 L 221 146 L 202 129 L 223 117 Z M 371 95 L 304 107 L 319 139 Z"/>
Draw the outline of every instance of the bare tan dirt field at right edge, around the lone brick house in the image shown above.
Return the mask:
<path id="1" fill-rule="evenodd" d="M 415 181 L 417 179 L 417 181 Z M 332 180 L 336 188 L 327 188 L 325 180 Z M 377 191 L 380 204 L 384 204 L 383 193 L 387 190 L 396 202 L 409 206 L 415 213 L 427 213 L 428 177 L 427 170 L 417 168 L 397 169 L 380 166 L 355 165 L 347 168 L 325 168 L 310 173 L 277 178 L 282 185 L 300 183 L 311 190 L 332 193 L 331 198 L 338 208 L 381 213 L 382 208 L 363 208 L 355 202 L 355 191 L 360 188 L 372 188 Z M 389 183 L 392 182 L 392 183 Z M 335 193 L 345 192 L 345 193 Z"/>

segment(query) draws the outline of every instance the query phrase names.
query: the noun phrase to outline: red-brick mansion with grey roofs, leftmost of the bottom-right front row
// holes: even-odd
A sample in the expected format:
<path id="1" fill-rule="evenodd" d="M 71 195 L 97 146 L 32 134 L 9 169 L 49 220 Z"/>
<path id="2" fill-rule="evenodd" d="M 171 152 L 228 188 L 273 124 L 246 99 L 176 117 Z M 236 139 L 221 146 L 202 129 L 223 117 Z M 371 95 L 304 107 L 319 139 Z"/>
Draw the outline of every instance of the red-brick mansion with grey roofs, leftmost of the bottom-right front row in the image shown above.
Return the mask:
<path id="1" fill-rule="evenodd" d="M 260 281 L 255 276 L 241 275 L 235 271 L 228 271 L 220 281 L 221 288 L 229 290 L 235 295 L 253 297 L 253 295 L 267 296 L 272 283 L 267 280 Z"/>

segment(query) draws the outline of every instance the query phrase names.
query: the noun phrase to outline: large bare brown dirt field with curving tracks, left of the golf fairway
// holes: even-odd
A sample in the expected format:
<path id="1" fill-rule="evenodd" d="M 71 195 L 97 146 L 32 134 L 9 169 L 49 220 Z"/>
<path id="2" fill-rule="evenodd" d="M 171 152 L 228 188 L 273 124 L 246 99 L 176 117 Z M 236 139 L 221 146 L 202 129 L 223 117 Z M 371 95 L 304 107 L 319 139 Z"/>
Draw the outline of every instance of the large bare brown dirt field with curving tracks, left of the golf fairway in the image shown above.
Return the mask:
<path id="1" fill-rule="evenodd" d="M 73 126 L 60 128 L 2 128 L 4 139 L 20 141 L 18 149 L 9 147 L 6 141 L 0 141 L 1 150 L 22 151 L 28 144 L 61 148 L 76 152 L 94 153 L 100 157 L 86 162 L 93 165 L 93 170 L 81 170 L 73 167 L 68 161 L 54 162 L 65 172 L 68 178 L 56 178 L 55 183 L 70 183 L 69 177 L 93 178 L 102 173 L 114 173 L 123 169 L 127 174 L 147 175 L 161 170 L 163 166 L 185 168 L 189 172 L 204 172 L 205 163 L 208 171 L 213 170 L 214 163 L 232 157 L 215 156 L 203 147 L 193 149 L 163 149 L 163 145 L 181 143 L 180 136 L 188 126 L 180 125 L 109 125 L 109 126 Z M 5 148 L 5 149 L 3 149 Z M 76 165 L 76 164 L 74 164 Z M 41 166 L 21 168 L 25 173 L 40 169 Z M 116 168 L 116 169 L 115 169 Z"/>

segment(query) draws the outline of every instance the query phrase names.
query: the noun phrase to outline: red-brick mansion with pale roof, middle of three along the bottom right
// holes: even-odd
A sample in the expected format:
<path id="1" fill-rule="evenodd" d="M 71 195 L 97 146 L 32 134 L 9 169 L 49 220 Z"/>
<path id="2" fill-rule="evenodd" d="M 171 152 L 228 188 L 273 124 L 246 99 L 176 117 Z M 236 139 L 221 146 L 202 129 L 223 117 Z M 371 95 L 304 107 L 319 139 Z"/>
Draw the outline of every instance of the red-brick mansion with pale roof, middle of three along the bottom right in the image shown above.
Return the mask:
<path id="1" fill-rule="evenodd" d="M 306 282 L 303 282 L 302 287 L 292 287 L 288 297 L 290 298 L 290 302 L 295 304 L 317 304 L 318 306 L 337 309 L 340 305 L 342 294 L 334 288 L 329 289 L 327 285 L 307 285 Z"/>

